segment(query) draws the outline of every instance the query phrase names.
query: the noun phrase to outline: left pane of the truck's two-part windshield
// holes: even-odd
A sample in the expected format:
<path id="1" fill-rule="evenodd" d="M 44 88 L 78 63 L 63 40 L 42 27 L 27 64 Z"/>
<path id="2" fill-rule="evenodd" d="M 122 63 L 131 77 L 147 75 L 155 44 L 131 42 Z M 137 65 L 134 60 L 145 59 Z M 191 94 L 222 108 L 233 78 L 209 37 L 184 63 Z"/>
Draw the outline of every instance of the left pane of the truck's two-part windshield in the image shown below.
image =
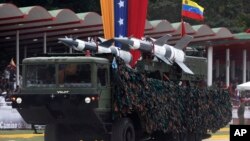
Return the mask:
<path id="1" fill-rule="evenodd" d="M 27 87 L 48 87 L 56 83 L 55 65 L 27 65 L 26 86 Z"/>

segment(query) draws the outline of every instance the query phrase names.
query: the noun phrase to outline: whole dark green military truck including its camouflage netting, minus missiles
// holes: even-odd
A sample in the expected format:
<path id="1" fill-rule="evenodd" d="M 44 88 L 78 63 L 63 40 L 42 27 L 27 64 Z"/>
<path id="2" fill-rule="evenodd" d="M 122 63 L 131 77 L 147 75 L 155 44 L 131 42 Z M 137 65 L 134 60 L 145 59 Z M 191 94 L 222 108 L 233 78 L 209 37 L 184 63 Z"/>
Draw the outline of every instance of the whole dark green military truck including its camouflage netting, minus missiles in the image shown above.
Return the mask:
<path id="1" fill-rule="evenodd" d="M 11 95 L 12 107 L 27 123 L 46 125 L 45 141 L 201 141 L 231 120 L 227 91 L 201 85 L 203 56 L 185 56 L 192 73 L 148 52 L 132 69 L 125 56 L 98 46 L 105 52 L 22 61 L 23 86 Z"/>

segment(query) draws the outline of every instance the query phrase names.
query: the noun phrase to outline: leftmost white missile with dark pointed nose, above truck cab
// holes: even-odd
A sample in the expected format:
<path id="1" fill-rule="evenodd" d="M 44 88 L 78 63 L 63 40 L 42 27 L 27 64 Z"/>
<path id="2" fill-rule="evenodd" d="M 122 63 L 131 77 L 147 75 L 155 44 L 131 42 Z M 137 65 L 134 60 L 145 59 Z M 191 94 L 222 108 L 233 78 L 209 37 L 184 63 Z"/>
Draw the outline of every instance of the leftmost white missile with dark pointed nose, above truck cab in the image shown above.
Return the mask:
<path id="1" fill-rule="evenodd" d="M 80 39 L 74 38 L 58 38 L 59 43 L 63 43 L 64 45 L 73 48 L 76 51 L 86 51 L 91 50 L 96 53 L 112 53 L 115 56 L 118 56 L 124 60 L 126 64 L 129 64 L 132 60 L 132 55 L 130 52 L 126 50 L 122 50 L 121 48 L 115 47 L 112 45 L 114 40 L 104 40 L 102 39 L 102 43 L 97 43 L 94 41 L 83 41 Z"/>

